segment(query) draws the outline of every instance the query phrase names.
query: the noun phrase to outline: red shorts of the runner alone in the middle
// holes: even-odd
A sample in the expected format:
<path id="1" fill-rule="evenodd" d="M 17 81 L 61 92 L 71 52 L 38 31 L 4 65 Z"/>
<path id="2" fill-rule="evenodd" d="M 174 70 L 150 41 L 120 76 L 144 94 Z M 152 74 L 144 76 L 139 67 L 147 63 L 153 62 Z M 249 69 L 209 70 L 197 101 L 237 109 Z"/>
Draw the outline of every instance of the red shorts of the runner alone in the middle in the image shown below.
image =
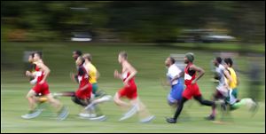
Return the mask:
<path id="1" fill-rule="evenodd" d="M 127 97 L 128 99 L 137 98 L 137 85 L 135 83 L 129 83 L 129 86 L 124 86 L 118 91 L 120 98 Z"/>

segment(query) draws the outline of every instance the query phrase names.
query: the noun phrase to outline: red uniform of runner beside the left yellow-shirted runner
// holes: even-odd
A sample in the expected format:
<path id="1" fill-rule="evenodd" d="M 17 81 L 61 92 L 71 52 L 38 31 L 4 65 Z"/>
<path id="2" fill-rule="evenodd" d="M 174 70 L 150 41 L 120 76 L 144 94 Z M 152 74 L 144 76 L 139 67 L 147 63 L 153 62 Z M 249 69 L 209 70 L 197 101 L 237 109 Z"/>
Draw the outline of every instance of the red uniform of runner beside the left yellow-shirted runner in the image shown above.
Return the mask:
<path id="1" fill-rule="evenodd" d="M 80 86 L 79 86 L 79 89 L 75 91 L 75 96 L 78 99 L 90 99 L 92 85 L 89 83 L 89 75 L 83 66 L 80 66 L 78 70 L 79 70 L 78 80 L 79 80 Z M 82 90 L 82 88 L 86 85 L 88 87 Z"/>

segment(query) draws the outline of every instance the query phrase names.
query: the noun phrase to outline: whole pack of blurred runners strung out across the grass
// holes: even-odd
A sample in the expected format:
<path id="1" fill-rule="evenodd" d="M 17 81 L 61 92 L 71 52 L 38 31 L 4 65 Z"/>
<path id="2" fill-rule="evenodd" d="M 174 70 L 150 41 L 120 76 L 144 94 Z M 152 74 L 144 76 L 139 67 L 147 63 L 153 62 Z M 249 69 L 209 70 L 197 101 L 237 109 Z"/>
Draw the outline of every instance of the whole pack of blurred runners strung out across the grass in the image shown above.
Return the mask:
<path id="1" fill-rule="evenodd" d="M 30 83 L 34 84 L 34 87 L 27 93 L 29 112 L 22 115 L 22 118 L 32 119 L 37 117 L 43 111 L 40 105 L 44 102 L 49 102 L 55 108 L 57 118 L 65 120 L 69 114 L 68 109 L 57 99 L 60 96 L 65 96 L 70 97 L 75 104 L 82 106 L 82 111 L 78 114 L 82 118 L 104 121 L 106 115 L 99 109 L 98 104 L 113 99 L 113 102 L 121 107 L 121 110 L 127 111 L 122 114 L 119 121 L 129 119 L 134 114 L 138 114 L 139 122 L 153 121 L 155 116 L 150 114 L 138 97 L 137 84 L 135 83 L 137 70 L 129 63 L 126 51 L 121 51 L 118 54 L 121 71 L 114 70 L 113 73 L 114 78 L 121 79 L 124 86 L 113 97 L 107 95 L 105 91 L 98 90 L 99 73 L 98 69 L 92 64 L 90 53 L 82 54 L 82 51 L 73 51 L 73 58 L 77 73 L 71 76 L 79 84 L 78 89 L 76 91 L 51 93 L 46 82 L 50 74 L 50 68 L 44 64 L 42 53 L 36 51 L 29 55 L 28 61 L 32 69 L 27 70 L 26 75 L 30 77 Z M 184 103 L 192 99 L 192 97 L 199 101 L 201 105 L 211 106 L 212 112 L 206 117 L 207 120 L 211 121 L 215 120 L 217 106 L 221 106 L 223 111 L 231 111 L 244 105 L 249 106 L 249 109 L 253 111 L 257 108 L 257 103 L 254 99 L 238 98 L 239 78 L 232 67 L 233 61 L 231 58 L 222 59 L 216 57 L 213 59 L 215 79 L 218 84 L 212 100 L 206 100 L 202 97 L 197 82 L 205 71 L 201 67 L 194 65 L 193 61 L 194 54 L 192 52 L 186 53 L 184 55 L 186 67 L 183 70 L 176 66 L 176 59 L 173 57 L 168 57 L 165 60 L 165 66 L 168 68 L 168 84 L 171 86 L 168 94 L 168 104 L 176 109 L 174 116 L 166 119 L 167 122 L 176 123 L 179 114 L 183 110 Z M 129 99 L 129 103 L 123 101 L 122 98 Z"/>

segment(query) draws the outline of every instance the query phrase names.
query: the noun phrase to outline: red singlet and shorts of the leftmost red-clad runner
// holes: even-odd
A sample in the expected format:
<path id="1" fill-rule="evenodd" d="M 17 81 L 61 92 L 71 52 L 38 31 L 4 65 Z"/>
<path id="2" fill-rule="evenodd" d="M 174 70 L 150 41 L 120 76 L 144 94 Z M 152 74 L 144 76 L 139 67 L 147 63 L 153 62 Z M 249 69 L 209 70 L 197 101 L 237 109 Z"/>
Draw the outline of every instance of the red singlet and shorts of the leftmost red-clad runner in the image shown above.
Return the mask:
<path id="1" fill-rule="evenodd" d="M 50 93 L 49 91 L 49 85 L 48 83 L 40 83 L 43 80 L 44 72 L 40 70 L 40 67 L 36 66 L 35 67 L 36 71 L 36 77 L 37 77 L 37 83 L 33 87 L 33 91 L 35 91 L 36 94 L 42 94 L 42 95 L 47 95 Z"/>

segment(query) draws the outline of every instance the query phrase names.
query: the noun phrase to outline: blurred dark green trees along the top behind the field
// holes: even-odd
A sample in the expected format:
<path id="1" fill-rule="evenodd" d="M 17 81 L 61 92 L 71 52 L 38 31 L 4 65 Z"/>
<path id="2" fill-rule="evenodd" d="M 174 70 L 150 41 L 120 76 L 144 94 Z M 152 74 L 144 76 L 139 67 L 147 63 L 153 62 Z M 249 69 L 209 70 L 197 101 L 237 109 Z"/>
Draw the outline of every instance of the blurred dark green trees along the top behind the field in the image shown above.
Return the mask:
<path id="1" fill-rule="evenodd" d="M 96 41 L 175 42 L 183 29 L 212 28 L 264 43 L 265 2 L 1 2 L 1 40 L 62 41 L 86 30 Z"/>

